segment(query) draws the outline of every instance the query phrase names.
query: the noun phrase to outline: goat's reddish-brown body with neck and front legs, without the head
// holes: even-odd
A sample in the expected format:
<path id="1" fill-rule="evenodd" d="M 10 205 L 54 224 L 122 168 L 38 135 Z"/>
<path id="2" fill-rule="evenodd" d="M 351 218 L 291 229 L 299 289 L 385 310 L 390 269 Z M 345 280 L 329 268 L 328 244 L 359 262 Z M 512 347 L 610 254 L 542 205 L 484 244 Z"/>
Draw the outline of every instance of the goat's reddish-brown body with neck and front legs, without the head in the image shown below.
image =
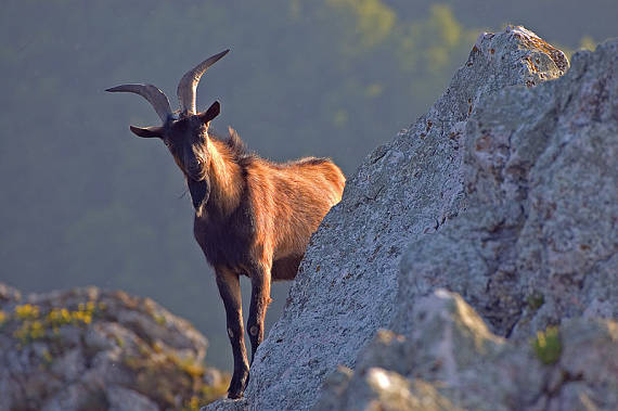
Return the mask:
<path id="1" fill-rule="evenodd" d="M 207 180 L 188 177 L 197 205 L 195 240 L 215 269 L 226 306 L 234 354 L 230 398 L 242 396 L 249 371 L 239 275 L 252 281 L 247 327 L 253 361 L 263 339 L 271 282 L 296 277 L 311 234 L 339 202 L 345 185 L 343 172 L 330 159 L 308 157 L 276 164 L 247 155 L 242 147 L 231 129 L 227 140 L 209 139 L 209 169 L 203 172 Z M 205 202 L 204 192 L 209 193 Z"/>

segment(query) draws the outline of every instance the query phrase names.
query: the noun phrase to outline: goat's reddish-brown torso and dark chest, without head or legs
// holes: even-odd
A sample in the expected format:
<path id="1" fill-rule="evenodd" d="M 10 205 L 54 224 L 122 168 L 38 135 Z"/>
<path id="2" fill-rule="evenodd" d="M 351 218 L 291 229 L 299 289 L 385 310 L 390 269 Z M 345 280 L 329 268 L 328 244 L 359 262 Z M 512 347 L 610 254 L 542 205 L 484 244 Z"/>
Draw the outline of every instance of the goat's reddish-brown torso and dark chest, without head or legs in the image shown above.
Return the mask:
<path id="1" fill-rule="evenodd" d="M 327 158 L 271 163 L 244 154 L 234 138 L 213 140 L 227 164 L 235 165 L 228 182 L 239 189 L 228 202 L 233 209 L 221 210 L 221 198 L 213 195 L 196 213 L 195 239 L 216 269 L 250 277 L 267 259 L 272 280 L 294 279 L 311 234 L 339 202 L 345 178 Z M 213 193 L 223 192 L 217 187 L 221 183 L 213 179 Z"/>

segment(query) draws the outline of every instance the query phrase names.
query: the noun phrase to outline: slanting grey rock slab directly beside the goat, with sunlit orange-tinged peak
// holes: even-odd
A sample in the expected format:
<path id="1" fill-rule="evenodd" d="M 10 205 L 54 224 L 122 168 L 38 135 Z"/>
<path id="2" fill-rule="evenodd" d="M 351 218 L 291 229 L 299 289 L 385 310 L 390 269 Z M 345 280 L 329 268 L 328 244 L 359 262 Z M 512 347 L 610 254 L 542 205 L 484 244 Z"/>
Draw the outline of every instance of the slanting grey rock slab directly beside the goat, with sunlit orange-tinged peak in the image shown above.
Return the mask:
<path id="1" fill-rule="evenodd" d="M 468 206 L 471 115 L 504 89 L 526 93 L 567 67 L 559 50 L 524 28 L 479 36 L 429 112 L 348 180 L 342 203 L 311 240 L 283 317 L 260 346 L 242 407 L 309 408 L 329 373 L 355 367 L 359 350 L 398 314 L 398 287 L 413 281 L 398 279 L 409 244 L 435 236 Z M 419 295 L 429 292 L 429 281 Z"/>

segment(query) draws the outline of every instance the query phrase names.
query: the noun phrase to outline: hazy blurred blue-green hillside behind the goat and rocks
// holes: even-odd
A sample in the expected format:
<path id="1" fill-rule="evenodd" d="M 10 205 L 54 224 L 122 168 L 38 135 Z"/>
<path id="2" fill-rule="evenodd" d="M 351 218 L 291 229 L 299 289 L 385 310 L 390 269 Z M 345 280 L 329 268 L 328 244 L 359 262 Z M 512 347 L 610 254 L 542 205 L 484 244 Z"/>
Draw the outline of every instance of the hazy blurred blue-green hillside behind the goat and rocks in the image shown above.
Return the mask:
<path id="1" fill-rule="evenodd" d="M 615 0 L 2 5 L 0 281 L 152 297 L 204 332 L 207 362 L 227 370 L 223 307 L 181 172 L 160 142 L 128 130 L 158 117 L 143 99 L 104 89 L 151 82 L 176 107 L 182 74 L 231 48 L 197 92 L 202 110 L 221 101 L 215 128 L 232 125 L 275 160 L 330 156 L 351 177 L 430 106 L 480 31 L 522 24 L 569 52 L 618 35 Z M 287 286 L 274 286 L 268 326 Z"/>

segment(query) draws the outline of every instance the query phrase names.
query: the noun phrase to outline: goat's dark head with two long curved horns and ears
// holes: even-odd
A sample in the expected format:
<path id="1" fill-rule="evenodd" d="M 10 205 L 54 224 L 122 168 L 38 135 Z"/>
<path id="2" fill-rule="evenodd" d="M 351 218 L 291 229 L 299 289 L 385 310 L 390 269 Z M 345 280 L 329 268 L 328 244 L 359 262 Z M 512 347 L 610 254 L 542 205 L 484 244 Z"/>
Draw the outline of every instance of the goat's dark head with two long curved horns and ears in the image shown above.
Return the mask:
<path id="1" fill-rule="evenodd" d="M 192 181 L 197 182 L 207 179 L 208 144 L 210 143 L 208 126 L 220 111 L 219 102 L 216 101 L 206 112 L 196 112 L 195 91 L 197 84 L 206 69 L 229 51 L 226 50 L 208 57 L 182 76 L 177 90 L 180 102 L 180 110 L 177 112 L 171 111 L 165 93 L 153 85 L 123 85 L 106 90 L 136 93 L 152 104 L 163 125 L 154 127 L 130 126 L 130 129 L 139 137 L 162 139 L 190 184 Z"/>

